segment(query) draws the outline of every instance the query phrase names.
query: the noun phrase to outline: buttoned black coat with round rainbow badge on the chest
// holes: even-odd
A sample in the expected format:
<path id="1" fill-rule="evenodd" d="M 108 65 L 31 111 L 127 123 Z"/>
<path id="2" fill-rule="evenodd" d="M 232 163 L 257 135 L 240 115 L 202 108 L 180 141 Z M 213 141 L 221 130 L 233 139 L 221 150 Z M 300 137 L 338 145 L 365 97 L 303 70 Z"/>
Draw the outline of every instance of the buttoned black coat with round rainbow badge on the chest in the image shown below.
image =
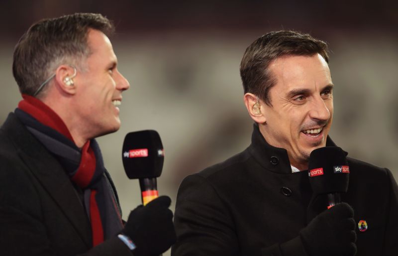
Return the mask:
<path id="1" fill-rule="evenodd" d="M 334 145 L 330 138 L 327 145 Z M 348 164 L 342 201 L 353 207 L 357 224 L 368 223 L 365 232 L 356 228 L 357 256 L 398 255 L 398 188 L 391 172 L 352 158 Z M 247 149 L 182 182 L 172 256 L 282 255 L 278 244 L 289 240 L 292 255 L 306 256 L 298 234 L 320 209 L 308 207 L 311 197 L 308 172 L 292 173 L 287 151 L 269 145 L 255 126 Z"/>

